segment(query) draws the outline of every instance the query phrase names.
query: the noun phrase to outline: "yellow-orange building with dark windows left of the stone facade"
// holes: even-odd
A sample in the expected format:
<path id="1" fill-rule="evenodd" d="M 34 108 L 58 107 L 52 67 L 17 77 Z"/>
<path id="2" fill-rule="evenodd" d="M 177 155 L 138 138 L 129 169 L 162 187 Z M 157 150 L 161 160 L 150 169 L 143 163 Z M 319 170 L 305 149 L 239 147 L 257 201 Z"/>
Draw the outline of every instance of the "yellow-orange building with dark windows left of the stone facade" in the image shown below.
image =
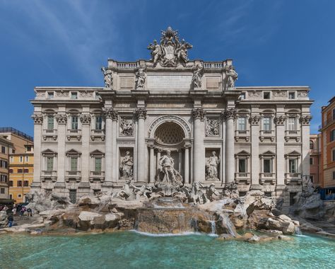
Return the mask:
<path id="1" fill-rule="evenodd" d="M 25 202 L 34 174 L 33 137 L 12 127 L 1 127 L 0 135 L 13 143 L 9 156 L 9 193 L 8 198 L 16 203 Z"/>

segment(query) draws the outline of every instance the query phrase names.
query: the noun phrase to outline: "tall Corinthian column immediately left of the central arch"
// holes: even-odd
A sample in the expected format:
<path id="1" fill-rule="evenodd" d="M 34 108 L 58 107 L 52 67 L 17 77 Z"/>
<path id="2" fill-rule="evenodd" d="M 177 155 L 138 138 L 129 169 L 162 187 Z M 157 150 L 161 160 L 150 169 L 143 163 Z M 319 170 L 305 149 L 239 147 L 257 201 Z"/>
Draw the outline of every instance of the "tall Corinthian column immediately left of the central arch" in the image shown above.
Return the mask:
<path id="1" fill-rule="evenodd" d="M 146 182 L 146 137 L 144 130 L 144 120 L 146 120 L 146 109 L 137 108 L 134 112 L 138 120 L 137 130 L 137 181 Z"/>

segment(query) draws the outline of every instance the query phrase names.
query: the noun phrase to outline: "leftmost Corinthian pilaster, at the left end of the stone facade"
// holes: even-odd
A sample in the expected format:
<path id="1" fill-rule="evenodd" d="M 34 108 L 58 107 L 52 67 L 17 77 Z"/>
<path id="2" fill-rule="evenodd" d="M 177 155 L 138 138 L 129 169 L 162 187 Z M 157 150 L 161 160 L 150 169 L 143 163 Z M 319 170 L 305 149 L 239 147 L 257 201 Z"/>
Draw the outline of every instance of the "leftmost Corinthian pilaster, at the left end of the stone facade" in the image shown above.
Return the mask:
<path id="1" fill-rule="evenodd" d="M 34 180 L 31 188 L 41 188 L 41 139 L 42 139 L 42 113 L 34 113 Z"/>

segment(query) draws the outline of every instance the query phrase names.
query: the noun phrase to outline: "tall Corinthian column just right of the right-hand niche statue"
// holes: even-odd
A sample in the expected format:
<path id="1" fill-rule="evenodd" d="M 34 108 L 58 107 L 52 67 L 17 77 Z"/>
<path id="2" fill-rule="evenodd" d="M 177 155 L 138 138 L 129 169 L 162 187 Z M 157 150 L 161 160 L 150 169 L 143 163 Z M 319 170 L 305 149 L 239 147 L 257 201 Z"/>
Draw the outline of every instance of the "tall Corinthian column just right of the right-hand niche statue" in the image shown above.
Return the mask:
<path id="1" fill-rule="evenodd" d="M 234 181 L 234 119 L 235 108 L 227 108 L 223 113 L 225 119 L 225 182 Z"/>

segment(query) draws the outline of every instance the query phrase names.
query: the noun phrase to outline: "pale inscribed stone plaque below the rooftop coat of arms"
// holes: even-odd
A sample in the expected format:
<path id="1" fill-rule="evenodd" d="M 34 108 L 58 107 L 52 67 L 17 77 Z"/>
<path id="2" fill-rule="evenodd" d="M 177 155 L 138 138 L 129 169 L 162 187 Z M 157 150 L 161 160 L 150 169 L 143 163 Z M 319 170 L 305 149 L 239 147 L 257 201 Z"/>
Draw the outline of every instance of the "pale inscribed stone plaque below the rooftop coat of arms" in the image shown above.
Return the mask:
<path id="1" fill-rule="evenodd" d="M 192 75 L 152 75 L 148 76 L 148 88 L 191 88 Z"/>

